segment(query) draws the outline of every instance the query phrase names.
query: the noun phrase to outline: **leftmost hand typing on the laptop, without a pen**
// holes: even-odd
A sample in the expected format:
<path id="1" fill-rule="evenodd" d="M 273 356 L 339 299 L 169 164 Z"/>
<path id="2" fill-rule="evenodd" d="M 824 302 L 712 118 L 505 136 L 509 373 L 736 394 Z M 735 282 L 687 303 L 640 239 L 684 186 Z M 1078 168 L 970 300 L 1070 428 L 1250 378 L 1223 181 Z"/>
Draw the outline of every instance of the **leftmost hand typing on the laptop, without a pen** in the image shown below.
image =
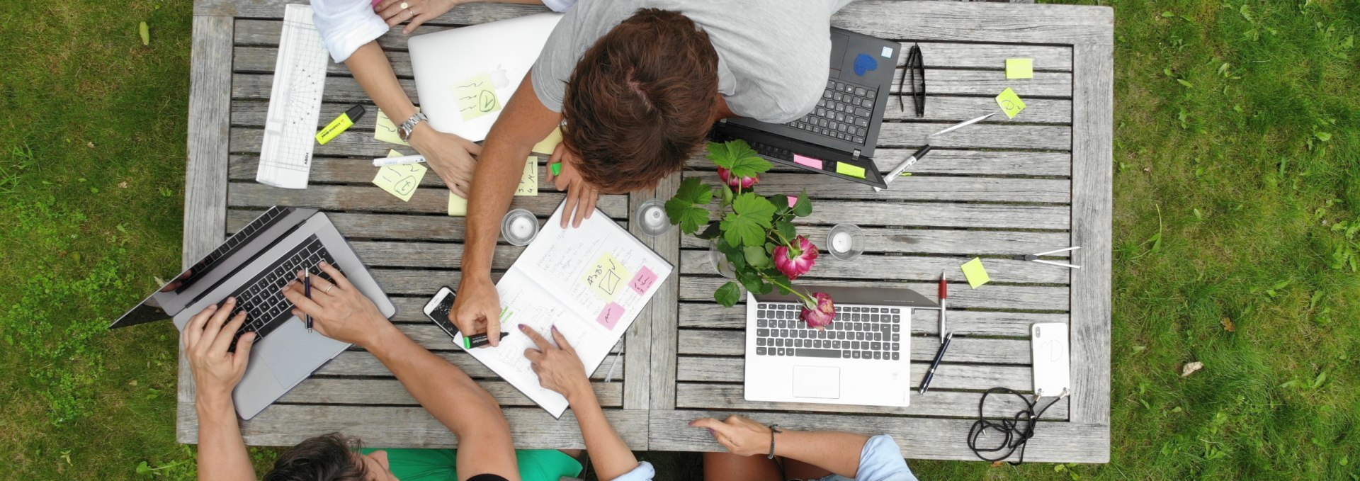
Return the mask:
<path id="1" fill-rule="evenodd" d="M 222 402 L 231 399 L 231 390 L 237 387 L 246 374 L 246 363 L 250 361 L 250 346 L 254 345 L 256 333 L 245 333 L 237 342 L 237 352 L 227 352 L 231 338 L 246 322 L 246 313 L 237 314 L 227 321 L 231 310 L 237 307 L 235 298 L 227 302 L 208 306 L 199 313 L 180 332 L 180 341 L 184 342 L 185 356 L 189 357 L 189 371 L 193 372 L 193 382 L 197 386 L 199 402 Z"/>

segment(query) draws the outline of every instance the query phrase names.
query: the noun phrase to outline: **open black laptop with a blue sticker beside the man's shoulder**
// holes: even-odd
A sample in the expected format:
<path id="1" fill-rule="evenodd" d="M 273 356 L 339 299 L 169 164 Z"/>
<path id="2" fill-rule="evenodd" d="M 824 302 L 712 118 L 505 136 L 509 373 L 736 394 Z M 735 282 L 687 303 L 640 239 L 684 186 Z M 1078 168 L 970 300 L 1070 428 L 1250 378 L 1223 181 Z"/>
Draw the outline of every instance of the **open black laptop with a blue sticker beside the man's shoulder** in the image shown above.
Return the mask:
<path id="1" fill-rule="evenodd" d="M 756 154 L 781 164 L 887 188 L 873 163 L 873 148 L 899 48 L 898 42 L 831 29 L 831 73 L 811 113 L 787 124 L 725 118 L 714 125 L 711 137 L 745 140 Z"/>

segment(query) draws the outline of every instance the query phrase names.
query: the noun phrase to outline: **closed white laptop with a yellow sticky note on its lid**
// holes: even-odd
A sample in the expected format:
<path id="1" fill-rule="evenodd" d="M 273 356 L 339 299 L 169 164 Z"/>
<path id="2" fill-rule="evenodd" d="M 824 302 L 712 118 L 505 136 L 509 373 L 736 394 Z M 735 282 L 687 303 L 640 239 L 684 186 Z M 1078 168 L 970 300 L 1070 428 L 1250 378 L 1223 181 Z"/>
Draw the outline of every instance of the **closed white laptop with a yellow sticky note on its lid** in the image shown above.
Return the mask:
<path id="1" fill-rule="evenodd" d="M 416 95 L 430 126 L 472 141 L 487 139 L 560 19 L 536 14 L 411 37 Z"/>

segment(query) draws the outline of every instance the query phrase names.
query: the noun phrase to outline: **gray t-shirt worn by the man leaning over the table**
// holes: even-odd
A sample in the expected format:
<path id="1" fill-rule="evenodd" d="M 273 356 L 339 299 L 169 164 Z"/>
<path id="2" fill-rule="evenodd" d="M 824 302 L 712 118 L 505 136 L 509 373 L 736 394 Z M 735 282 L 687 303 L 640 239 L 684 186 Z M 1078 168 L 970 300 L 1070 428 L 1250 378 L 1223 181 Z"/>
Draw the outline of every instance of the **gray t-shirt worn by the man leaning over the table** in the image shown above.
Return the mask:
<path id="1" fill-rule="evenodd" d="M 816 106 L 827 84 L 831 14 L 853 0 L 581 0 L 548 35 L 533 64 L 533 91 L 552 111 L 577 61 L 638 8 L 684 14 L 718 52 L 718 92 L 732 113 L 789 122 Z"/>

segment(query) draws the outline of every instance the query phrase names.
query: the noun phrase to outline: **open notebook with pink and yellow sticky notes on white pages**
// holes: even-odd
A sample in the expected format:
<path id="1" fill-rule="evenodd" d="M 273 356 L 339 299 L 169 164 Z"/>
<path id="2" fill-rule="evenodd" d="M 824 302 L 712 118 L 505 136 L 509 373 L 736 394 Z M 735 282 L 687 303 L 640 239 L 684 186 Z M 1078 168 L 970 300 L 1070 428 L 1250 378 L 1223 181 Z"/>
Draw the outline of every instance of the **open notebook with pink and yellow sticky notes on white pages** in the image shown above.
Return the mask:
<path id="1" fill-rule="evenodd" d="M 551 342 L 549 329 L 556 325 L 589 375 L 673 270 L 670 262 L 598 209 L 575 228 L 559 227 L 560 216 L 558 205 L 539 236 L 496 283 L 500 332 L 510 336 L 499 346 L 468 351 L 552 417 L 562 417 L 567 399 L 539 385 L 524 357 L 534 344 L 517 326 L 530 326 Z M 461 334 L 454 344 L 462 345 Z"/>

